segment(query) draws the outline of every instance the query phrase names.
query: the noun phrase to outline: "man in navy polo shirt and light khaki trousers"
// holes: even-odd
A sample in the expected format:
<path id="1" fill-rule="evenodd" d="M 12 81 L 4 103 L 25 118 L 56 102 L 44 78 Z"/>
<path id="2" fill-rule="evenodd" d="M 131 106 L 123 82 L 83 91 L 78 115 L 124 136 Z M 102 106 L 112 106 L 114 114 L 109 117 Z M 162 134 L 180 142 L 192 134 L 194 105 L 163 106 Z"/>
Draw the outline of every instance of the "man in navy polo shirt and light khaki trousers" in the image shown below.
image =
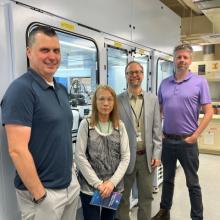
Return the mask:
<path id="1" fill-rule="evenodd" d="M 27 56 L 29 70 L 1 102 L 21 217 L 75 219 L 79 184 L 72 170 L 73 117 L 66 89 L 53 78 L 61 59 L 56 32 L 34 28 Z"/>

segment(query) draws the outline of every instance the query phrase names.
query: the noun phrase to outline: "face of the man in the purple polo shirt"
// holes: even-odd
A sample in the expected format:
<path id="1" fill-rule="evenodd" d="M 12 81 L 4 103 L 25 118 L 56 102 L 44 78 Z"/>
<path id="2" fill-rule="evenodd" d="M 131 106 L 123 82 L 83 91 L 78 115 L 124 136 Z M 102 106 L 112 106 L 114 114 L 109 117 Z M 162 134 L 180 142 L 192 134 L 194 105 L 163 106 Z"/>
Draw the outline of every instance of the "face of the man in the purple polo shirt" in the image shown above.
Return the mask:
<path id="1" fill-rule="evenodd" d="M 192 63 L 192 53 L 188 50 L 177 50 L 174 56 L 176 73 L 186 73 Z"/>

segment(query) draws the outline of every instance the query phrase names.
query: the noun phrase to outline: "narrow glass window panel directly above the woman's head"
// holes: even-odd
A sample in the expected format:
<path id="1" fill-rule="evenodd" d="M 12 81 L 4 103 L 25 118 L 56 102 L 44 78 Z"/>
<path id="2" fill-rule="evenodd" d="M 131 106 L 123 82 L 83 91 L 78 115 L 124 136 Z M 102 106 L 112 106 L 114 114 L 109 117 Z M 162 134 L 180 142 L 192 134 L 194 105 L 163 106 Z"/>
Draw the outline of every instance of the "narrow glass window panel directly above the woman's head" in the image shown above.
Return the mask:
<path id="1" fill-rule="evenodd" d="M 119 94 L 126 90 L 125 66 L 128 62 L 128 54 L 126 50 L 108 47 L 108 85 L 110 85 Z"/>

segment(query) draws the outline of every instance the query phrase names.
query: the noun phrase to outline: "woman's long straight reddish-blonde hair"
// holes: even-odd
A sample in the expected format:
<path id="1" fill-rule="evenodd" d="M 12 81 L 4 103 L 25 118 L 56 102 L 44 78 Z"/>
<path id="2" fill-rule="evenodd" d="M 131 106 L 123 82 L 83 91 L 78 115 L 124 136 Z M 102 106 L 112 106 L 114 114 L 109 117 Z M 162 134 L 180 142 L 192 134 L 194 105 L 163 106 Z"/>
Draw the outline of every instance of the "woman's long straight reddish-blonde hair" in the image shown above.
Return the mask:
<path id="1" fill-rule="evenodd" d="M 98 109 L 97 109 L 97 92 L 100 89 L 109 91 L 111 93 L 112 97 L 113 97 L 114 104 L 113 104 L 113 109 L 110 113 L 109 119 L 112 122 L 113 128 L 119 128 L 119 114 L 118 114 L 118 104 L 117 104 L 116 93 L 108 85 L 99 85 L 95 90 L 95 93 L 94 93 L 93 99 L 92 99 L 92 114 L 91 114 L 91 118 L 90 118 L 90 126 L 91 127 L 96 126 L 98 124 L 98 121 L 99 121 Z"/>

